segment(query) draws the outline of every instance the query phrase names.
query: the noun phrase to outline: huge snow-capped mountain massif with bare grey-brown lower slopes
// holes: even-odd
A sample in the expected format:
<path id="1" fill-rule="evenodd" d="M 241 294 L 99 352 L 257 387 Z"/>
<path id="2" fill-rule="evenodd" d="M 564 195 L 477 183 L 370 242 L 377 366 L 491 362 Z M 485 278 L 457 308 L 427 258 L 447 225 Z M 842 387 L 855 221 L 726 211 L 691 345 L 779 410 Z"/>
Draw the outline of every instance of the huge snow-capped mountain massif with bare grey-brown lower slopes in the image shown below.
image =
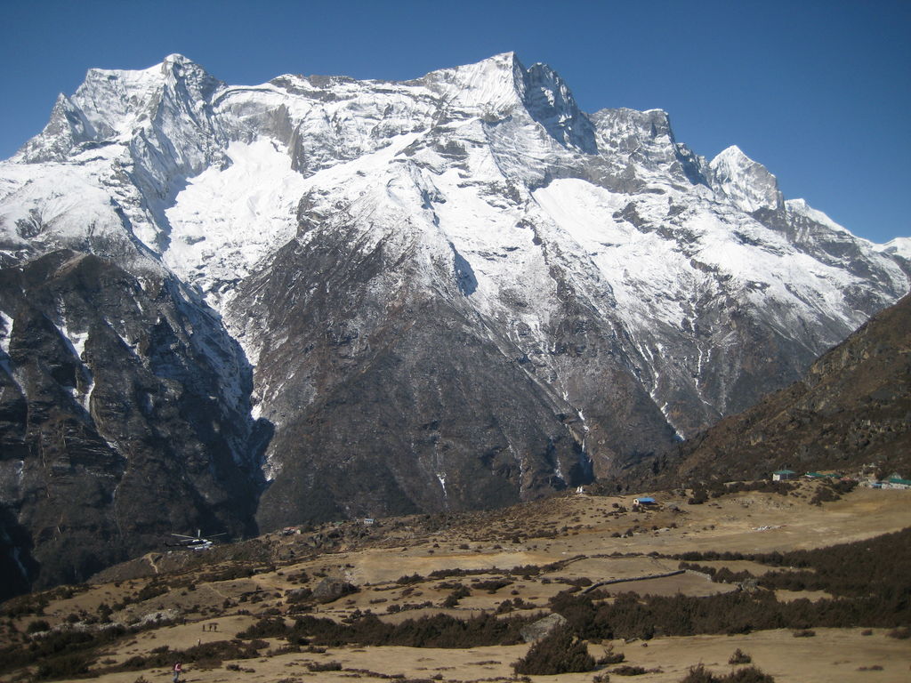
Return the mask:
<path id="1" fill-rule="evenodd" d="M 98 392 L 127 361 L 87 354 L 116 332 L 148 382 L 216 415 L 218 443 L 172 443 L 170 459 L 230 470 L 185 479 L 188 519 L 231 528 L 250 513 L 207 501 L 240 473 L 268 483 L 262 528 L 501 505 L 609 474 L 792 381 L 909 286 L 900 245 L 783 200 L 740 149 L 707 161 L 660 110 L 586 114 L 511 53 L 405 82 L 234 87 L 183 56 L 93 69 L 0 164 L 0 249 L 38 288 L 91 254 L 141 312 L 79 317 L 7 275 L 4 401 L 37 400 L 21 367 L 32 311 L 87 378 L 51 368 L 41 386 L 74 396 L 63 410 L 128 472 L 129 430 Z M 150 344 L 162 325 L 177 341 Z M 154 431 L 147 403 L 121 408 Z M 0 502 L 36 536 L 28 492 L 53 465 L 15 415 Z"/>

